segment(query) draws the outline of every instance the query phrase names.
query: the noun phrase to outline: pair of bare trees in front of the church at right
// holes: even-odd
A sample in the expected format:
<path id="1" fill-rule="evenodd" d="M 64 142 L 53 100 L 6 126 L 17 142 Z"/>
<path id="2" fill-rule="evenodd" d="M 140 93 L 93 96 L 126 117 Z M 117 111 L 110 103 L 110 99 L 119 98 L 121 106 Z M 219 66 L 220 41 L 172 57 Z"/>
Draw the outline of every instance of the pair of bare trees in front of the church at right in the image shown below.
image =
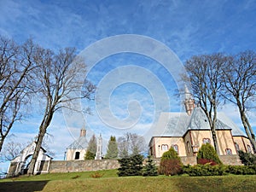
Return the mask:
<path id="1" fill-rule="evenodd" d="M 250 123 L 250 112 L 255 113 L 256 107 L 256 53 L 247 50 L 236 55 L 194 55 L 185 62 L 185 68 L 187 74 L 182 74 L 182 79 L 191 84 L 195 102 L 207 116 L 217 153 L 218 107 L 227 103 L 238 108 L 244 131 L 256 152 L 255 134 Z"/>

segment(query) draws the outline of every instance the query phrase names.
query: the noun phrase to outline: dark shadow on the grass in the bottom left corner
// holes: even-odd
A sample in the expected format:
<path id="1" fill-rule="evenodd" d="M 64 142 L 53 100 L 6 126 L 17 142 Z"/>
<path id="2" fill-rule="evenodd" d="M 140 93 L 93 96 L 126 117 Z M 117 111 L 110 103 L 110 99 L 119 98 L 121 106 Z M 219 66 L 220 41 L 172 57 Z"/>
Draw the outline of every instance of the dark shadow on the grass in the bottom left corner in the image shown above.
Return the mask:
<path id="1" fill-rule="evenodd" d="M 1 182 L 0 191 L 41 191 L 49 181 L 14 181 L 14 182 Z"/>

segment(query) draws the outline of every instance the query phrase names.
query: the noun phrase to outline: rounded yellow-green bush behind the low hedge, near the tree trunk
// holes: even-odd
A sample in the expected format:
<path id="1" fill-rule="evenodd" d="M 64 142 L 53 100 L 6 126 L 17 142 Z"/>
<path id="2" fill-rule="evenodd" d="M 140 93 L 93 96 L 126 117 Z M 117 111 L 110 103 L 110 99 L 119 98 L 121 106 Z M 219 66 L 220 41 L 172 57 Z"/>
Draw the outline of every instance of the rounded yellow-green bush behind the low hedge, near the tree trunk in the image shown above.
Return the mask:
<path id="1" fill-rule="evenodd" d="M 197 153 L 197 163 L 201 163 L 207 160 L 210 160 L 212 165 L 222 164 L 222 162 L 218 158 L 218 154 L 210 143 L 202 144 L 201 148 Z"/>

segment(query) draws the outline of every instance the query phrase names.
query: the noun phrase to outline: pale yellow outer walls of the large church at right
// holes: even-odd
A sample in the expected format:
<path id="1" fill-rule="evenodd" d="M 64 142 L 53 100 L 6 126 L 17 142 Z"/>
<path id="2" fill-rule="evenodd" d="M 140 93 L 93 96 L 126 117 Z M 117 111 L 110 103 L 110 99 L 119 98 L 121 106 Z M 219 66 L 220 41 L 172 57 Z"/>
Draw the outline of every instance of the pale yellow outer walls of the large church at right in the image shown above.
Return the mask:
<path id="1" fill-rule="evenodd" d="M 237 154 L 235 143 L 238 143 L 241 150 L 247 152 L 247 145 L 252 145 L 250 141 L 246 137 L 232 137 L 230 130 L 218 130 L 216 131 L 217 140 L 218 140 L 218 148 L 220 155 L 226 155 L 226 149 L 230 148 L 232 154 Z M 172 147 L 172 145 L 177 144 L 178 146 L 178 155 L 179 156 L 193 156 L 196 153 L 193 152 L 193 146 L 198 146 L 198 149 L 201 148 L 203 144 L 203 139 L 209 138 L 212 146 L 212 131 L 203 130 L 203 131 L 187 131 L 184 137 L 154 137 L 149 143 L 149 147 L 151 148 L 152 154 L 156 158 L 160 158 L 166 150 L 163 150 L 162 145 L 168 145 L 168 149 Z M 188 144 L 189 143 L 189 146 Z M 246 147 L 245 147 L 246 146 Z M 168 150 L 167 149 L 167 150 Z"/>

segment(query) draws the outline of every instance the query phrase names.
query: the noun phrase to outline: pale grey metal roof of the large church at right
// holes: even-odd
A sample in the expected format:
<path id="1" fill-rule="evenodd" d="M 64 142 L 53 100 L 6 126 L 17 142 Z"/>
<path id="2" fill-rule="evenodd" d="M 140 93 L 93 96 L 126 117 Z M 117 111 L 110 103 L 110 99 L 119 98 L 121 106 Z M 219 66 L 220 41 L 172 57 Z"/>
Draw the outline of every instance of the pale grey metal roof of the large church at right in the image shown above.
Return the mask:
<path id="1" fill-rule="evenodd" d="M 216 130 L 231 130 L 233 136 L 245 136 L 241 129 L 224 113 L 217 114 Z M 211 130 L 201 108 L 188 113 L 160 113 L 153 137 L 183 137 L 189 130 Z"/>

